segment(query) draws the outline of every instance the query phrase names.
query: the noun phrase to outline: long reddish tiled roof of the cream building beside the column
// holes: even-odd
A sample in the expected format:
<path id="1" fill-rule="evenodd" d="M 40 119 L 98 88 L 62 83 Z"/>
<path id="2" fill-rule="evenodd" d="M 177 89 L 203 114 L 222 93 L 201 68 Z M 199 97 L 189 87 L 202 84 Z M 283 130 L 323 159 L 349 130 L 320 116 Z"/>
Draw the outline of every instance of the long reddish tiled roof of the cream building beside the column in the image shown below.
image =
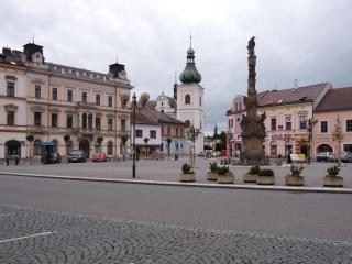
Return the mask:
<path id="1" fill-rule="evenodd" d="M 314 101 L 328 82 L 310 85 L 285 90 L 271 90 L 257 94 L 260 107 L 287 105 L 298 101 Z"/>

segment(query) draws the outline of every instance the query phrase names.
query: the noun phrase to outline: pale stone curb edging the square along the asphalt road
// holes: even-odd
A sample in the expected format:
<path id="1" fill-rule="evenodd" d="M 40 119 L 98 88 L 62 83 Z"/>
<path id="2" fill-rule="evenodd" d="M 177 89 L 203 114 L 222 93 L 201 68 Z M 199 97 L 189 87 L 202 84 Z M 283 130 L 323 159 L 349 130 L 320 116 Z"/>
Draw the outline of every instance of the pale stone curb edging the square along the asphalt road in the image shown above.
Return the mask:
<path id="1" fill-rule="evenodd" d="M 205 184 L 205 183 L 180 183 L 180 182 L 162 182 L 147 179 L 113 179 L 113 178 L 95 178 L 80 176 L 63 175 L 44 175 L 44 174 L 25 174 L 0 172 L 0 175 L 11 175 L 33 178 L 52 178 L 66 180 L 85 180 L 120 184 L 142 184 L 142 185 L 164 185 L 164 186 L 184 186 L 201 188 L 222 188 L 222 189 L 251 189 L 251 190 L 275 190 L 275 191 L 295 191 L 295 193 L 330 193 L 330 194 L 352 194 L 352 188 L 331 188 L 331 187 L 294 187 L 294 186 L 264 186 L 264 185 L 235 185 L 235 184 Z"/>

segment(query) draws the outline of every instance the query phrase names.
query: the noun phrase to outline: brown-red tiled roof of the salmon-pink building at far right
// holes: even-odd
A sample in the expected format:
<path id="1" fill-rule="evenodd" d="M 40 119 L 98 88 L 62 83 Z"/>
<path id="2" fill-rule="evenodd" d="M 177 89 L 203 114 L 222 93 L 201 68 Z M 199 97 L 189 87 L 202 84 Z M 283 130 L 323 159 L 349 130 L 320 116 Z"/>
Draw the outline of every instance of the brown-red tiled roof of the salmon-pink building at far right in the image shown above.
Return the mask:
<path id="1" fill-rule="evenodd" d="M 352 109 L 352 87 L 330 89 L 316 108 L 317 112 Z"/>

